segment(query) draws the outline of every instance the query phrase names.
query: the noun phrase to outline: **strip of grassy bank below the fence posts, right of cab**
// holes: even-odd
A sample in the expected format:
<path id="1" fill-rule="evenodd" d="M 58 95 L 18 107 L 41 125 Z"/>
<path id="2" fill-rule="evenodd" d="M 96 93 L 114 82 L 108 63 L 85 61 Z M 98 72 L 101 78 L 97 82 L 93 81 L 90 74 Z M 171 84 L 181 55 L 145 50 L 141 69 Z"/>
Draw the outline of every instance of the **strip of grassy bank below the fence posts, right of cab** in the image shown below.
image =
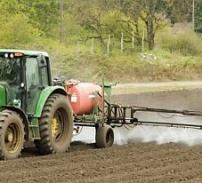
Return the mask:
<path id="1" fill-rule="evenodd" d="M 54 54 L 53 71 L 67 78 L 98 81 L 104 74 L 110 81 L 169 81 L 202 78 L 200 55 L 184 56 L 157 49 L 143 58 L 141 53 L 133 55 L 106 56 L 79 53 Z M 60 58 L 59 58 L 60 57 Z M 151 58 L 150 58 L 151 57 Z M 154 57 L 154 58 L 153 58 Z"/>

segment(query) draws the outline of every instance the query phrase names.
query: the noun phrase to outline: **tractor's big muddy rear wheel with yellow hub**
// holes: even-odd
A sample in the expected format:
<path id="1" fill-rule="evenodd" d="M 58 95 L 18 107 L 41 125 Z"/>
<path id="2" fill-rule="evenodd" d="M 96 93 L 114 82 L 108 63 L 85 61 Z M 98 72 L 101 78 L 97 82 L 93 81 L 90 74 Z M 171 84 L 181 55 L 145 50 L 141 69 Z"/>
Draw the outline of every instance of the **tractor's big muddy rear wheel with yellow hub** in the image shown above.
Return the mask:
<path id="1" fill-rule="evenodd" d="M 35 144 L 40 154 L 68 150 L 73 133 L 73 114 L 66 96 L 53 94 L 47 99 L 39 120 L 39 130 L 41 139 Z"/>

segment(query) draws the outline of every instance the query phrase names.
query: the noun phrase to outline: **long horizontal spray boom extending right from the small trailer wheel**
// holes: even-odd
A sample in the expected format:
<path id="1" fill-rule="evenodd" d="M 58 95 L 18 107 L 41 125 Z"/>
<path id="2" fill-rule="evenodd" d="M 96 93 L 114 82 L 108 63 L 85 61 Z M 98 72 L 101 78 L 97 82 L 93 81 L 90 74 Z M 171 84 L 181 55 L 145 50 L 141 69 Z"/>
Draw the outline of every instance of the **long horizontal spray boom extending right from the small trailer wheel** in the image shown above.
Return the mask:
<path id="1" fill-rule="evenodd" d="M 113 127 L 121 127 L 123 125 L 146 125 L 146 126 L 165 126 L 175 128 L 193 128 L 202 129 L 202 124 L 176 123 L 176 122 L 156 122 L 156 121 L 141 121 L 136 117 L 136 112 L 144 113 L 169 113 L 181 114 L 184 116 L 202 116 L 202 111 L 192 110 L 169 110 L 160 108 L 149 108 L 141 106 L 121 106 L 117 104 L 107 103 L 107 123 Z"/>

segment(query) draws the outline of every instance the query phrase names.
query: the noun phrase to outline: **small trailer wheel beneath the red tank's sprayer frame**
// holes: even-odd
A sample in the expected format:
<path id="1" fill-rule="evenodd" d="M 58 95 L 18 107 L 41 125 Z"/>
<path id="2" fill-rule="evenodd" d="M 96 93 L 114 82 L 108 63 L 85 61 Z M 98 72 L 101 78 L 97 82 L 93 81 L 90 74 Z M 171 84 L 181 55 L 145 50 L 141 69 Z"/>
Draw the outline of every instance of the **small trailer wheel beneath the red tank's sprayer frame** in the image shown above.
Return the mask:
<path id="1" fill-rule="evenodd" d="M 111 147 L 114 143 L 114 131 L 111 126 L 104 125 L 96 128 L 96 146 L 98 148 Z"/>

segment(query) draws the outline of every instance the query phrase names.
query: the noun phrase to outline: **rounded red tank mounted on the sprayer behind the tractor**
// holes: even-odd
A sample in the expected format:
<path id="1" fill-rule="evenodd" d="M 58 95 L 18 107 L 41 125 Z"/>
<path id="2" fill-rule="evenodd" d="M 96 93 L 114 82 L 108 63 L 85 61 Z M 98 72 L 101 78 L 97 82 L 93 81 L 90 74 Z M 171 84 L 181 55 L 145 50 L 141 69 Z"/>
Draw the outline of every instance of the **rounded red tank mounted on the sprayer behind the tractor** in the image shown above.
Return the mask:
<path id="1" fill-rule="evenodd" d="M 102 88 L 93 83 L 82 83 L 77 81 L 65 82 L 65 90 L 70 94 L 70 102 L 74 114 L 83 115 L 92 113 L 98 105 L 101 106 Z"/>

